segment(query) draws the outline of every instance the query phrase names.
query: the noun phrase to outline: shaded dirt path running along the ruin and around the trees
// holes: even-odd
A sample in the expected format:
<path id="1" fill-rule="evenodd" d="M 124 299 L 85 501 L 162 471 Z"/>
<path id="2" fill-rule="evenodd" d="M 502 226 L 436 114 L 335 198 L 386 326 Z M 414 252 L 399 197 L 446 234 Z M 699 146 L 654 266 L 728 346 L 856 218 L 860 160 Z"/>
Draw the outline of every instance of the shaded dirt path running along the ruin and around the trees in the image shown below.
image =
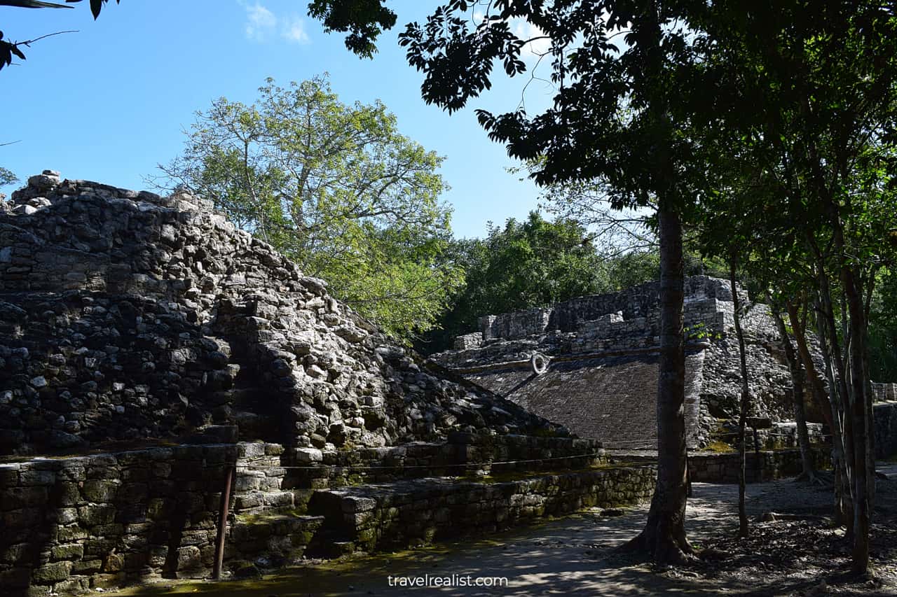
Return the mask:
<path id="1" fill-rule="evenodd" d="M 897 475 L 897 465 L 886 472 Z M 884 512 L 897 506 L 897 480 L 882 481 L 880 503 Z M 807 520 L 755 524 L 752 539 L 720 542 L 736 530 L 737 487 L 694 484 L 689 500 L 687 528 L 699 546 L 719 545 L 739 549 L 734 557 L 718 565 L 693 568 L 653 569 L 649 563 L 613 550 L 640 531 L 647 505 L 633 507 L 623 515 L 605 516 L 584 512 L 508 532 L 482 541 L 459 540 L 379 557 L 352 558 L 344 562 L 293 567 L 261 580 L 212 583 L 171 582 L 135 588 L 116 594 L 239 595 L 242 597 L 286 597 L 288 595 L 776 595 L 776 594 L 881 594 L 897 595 L 897 569 L 882 565 L 884 584 L 835 585 L 823 589 L 820 581 L 832 575 L 840 556 L 816 554 L 804 558 L 801 541 L 828 541 L 840 549 L 840 531 L 825 528 L 819 515 L 831 508 L 831 489 L 780 480 L 747 488 L 748 515 L 765 512 L 810 515 Z M 897 507 L 893 508 L 897 512 Z M 801 522 L 803 520 L 803 522 Z M 893 524 L 891 524 L 893 527 Z M 803 533 L 803 534 L 801 534 Z M 842 532 L 841 532 L 842 533 Z M 883 534 L 883 533 L 879 533 Z M 799 537 L 799 539 L 797 539 Z M 805 539 L 808 537 L 809 539 Z M 820 539 L 820 537 L 822 539 Z M 796 545 L 788 545 L 795 539 Z M 753 542 L 752 542 L 753 541 Z M 893 537 L 882 541 L 893 543 Z M 897 545 L 894 545 L 897 548 Z M 769 549 L 769 553 L 764 553 Z M 823 548 L 819 548 L 823 549 Z M 881 549 L 886 549 L 881 548 Z M 879 551 L 881 551 L 879 549 Z M 818 551 L 818 549 L 816 549 Z M 813 550 L 807 550 L 812 554 Z M 840 552 L 839 552 L 840 553 Z M 874 549 L 874 555 L 875 555 Z M 783 555 L 784 554 L 784 555 Z M 884 554 L 879 554 L 884 556 Z M 768 557 L 767 557 L 768 556 Z M 789 559 L 790 558 L 790 559 Z M 820 559 L 821 558 L 821 559 Z M 819 560 L 819 561 L 817 561 Z M 840 560 L 839 560 L 840 561 Z M 891 558 L 893 562 L 893 558 Z M 837 568 L 837 566 L 835 566 Z M 507 586 L 496 587 L 403 587 L 396 577 L 504 577 Z M 418 581 L 421 582 L 421 581 Z"/>

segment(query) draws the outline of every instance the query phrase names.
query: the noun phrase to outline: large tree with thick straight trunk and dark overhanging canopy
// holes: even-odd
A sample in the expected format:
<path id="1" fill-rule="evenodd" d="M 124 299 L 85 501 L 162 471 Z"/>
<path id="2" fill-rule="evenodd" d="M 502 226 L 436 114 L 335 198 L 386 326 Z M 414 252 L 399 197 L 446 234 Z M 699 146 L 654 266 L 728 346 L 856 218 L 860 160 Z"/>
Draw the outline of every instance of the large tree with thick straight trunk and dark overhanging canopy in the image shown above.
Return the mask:
<path id="1" fill-rule="evenodd" d="M 356 38 L 357 22 L 336 23 L 332 15 L 391 14 L 379 0 L 315 4 L 312 13 L 328 29 L 348 30 Z M 503 66 L 510 76 L 523 74 L 527 43 L 547 40 L 548 59 L 540 64 L 551 69 L 544 77 L 555 85 L 551 108 L 535 116 L 523 108 L 501 115 L 480 110 L 480 123 L 513 157 L 544 160 L 535 174 L 539 184 L 598 179 L 613 189 L 614 207 L 657 206 L 658 484 L 645 530 L 631 545 L 659 561 L 681 560 L 692 553 L 684 532 L 682 223 L 705 186 L 704 165 L 681 125 L 694 103 L 691 96 L 701 89 L 692 77 L 689 17 L 706 4 L 501 0 L 484 7 L 482 17 L 470 14 L 475 5 L 452 0 L 425 24 L 412 23 L 400 34 L 409 62 L 424 74 L 423 99 L 448 111 L 462 108 L 492 86 L 493 66 Z M 527 22 L 536 34 L 516 35 L 514 22 Z M 623 39 L 615 39 L 621 34 Z"/>

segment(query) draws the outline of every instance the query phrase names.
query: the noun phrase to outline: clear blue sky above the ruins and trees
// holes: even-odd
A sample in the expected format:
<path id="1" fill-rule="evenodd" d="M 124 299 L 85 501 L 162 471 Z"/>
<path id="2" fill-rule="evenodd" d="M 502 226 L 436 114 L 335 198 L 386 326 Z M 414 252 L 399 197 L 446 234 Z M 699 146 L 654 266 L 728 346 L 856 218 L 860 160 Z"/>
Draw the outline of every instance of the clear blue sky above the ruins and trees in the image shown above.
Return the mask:
<path id="1" fill-rule="evenodd" d="M 515 162 L 489 141 L 473 110 L 517 108 L 528 76 L 498 76 L 483 99 L 451 116 L 420 98 L 422 75 L 405 62 L 396 34 L 435 3 L 391 3 L 398 26 L 372 61 L 351 55 L 340 35 L 323 33 L 306 15 L 308 0 L 122 0 L 107 4 L 96 22 L 87 4 L 0 6 L 5 39 L 78 30 L 24 48 L 26 61 L 0 71 L 0 143 L 19 142 L 0 147 L 0 166 L 22 179 L 57 169 L 144 188 L 144 177 L 181 150 L 193 113 L 213 99 L 251 102 L 267 76 L 286 84 L 327 72 L 344 102 L 382 99 L 402 133 L 446 156 L 442 175 L 452 189 L 444 199 L 455 210 L 456 236 L 483 236 L 487 221 L 536 208 L 536 186 L 505 171 Z M 527 106 L 549 98 L 544 83 L 527 88 Z"/>

